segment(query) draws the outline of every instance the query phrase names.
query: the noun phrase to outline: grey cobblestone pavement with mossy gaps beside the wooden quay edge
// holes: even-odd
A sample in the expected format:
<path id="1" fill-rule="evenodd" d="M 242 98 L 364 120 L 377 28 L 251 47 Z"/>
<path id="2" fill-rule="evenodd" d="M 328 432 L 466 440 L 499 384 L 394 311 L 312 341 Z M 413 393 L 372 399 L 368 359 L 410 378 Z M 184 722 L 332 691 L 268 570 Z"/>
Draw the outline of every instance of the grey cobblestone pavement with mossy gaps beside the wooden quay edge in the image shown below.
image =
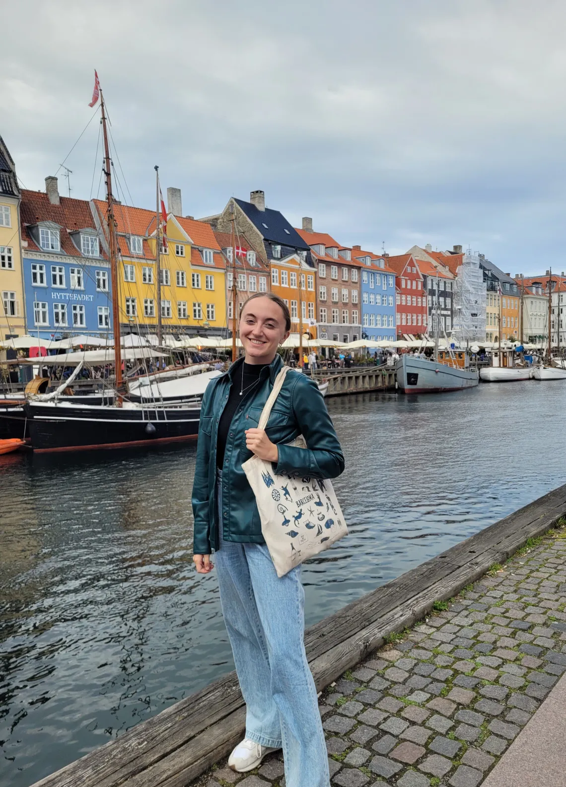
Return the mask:
<path id="1" fill-rule="evenodd" d="M 566 670 L 566 529 L 347 671 L 320 696 L 332 785 L 476 787 Z M 284 787 L 281 752 L 207 787 Z"/>

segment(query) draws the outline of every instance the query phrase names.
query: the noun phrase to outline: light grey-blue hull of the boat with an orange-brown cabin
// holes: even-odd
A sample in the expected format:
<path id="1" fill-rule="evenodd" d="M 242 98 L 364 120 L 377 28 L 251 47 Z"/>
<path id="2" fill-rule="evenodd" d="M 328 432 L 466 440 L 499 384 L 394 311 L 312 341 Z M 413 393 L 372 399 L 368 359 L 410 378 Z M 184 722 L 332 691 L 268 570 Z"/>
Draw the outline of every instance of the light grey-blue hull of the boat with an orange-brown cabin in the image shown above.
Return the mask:
<path id="1" fill-rule="evenodd" d="M 395 371 L 398 387 L 405 393 L 458 391 L 473 388 L 479 382 L 478 372 L 475 369 L 461 368 L 408 353 L 399 357 L 395 364 Z"/>

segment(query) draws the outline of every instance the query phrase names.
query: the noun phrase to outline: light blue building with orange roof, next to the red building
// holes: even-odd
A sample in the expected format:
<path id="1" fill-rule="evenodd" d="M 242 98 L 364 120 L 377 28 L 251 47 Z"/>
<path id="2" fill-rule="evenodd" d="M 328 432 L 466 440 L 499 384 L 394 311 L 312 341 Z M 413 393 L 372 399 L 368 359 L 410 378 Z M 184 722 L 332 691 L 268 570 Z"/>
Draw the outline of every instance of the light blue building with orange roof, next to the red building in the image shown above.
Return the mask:
<path id="1" fill-rule="evenodd" d="M 379 342 L 397 338 L 395 326 L 395 272 L 386 259 L 360 246 L 352 247 L 352 259 L 361 268 L 361 337 Z"/>

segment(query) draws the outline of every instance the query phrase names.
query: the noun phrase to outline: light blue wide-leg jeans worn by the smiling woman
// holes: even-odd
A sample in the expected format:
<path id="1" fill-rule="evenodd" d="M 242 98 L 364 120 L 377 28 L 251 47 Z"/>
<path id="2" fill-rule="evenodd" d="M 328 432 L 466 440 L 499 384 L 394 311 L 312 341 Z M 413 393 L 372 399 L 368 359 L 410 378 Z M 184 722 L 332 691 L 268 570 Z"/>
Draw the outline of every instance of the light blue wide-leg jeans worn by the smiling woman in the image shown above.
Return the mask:
<path id="1" fill-rule="evenodd" d="M 220 511 L 221 494 L 217 484 Z M 246 738 L 283 748 L 287 787 L 329 787 L 326 743 L 303 641 L 301 567 L 278 578 L 265 544 L 224 541 L 221 525 L 214 563 L 246 701 Z"/>

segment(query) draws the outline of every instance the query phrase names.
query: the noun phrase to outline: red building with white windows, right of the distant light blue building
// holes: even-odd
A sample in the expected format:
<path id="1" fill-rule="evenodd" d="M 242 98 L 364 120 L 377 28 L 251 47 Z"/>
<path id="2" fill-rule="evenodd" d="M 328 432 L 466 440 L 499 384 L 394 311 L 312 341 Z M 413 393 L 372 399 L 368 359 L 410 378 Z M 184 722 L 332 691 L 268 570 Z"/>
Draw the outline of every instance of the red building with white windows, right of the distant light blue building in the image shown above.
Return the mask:
<path id="1" fill-rule="evenodd" d="M 427 294 L 424 292 L 423 276 L 412 254 L 386 257 L 387 265 L 397 274 L 395 277 L 395 311 L 397 335 L 423 334 L 427 330 Z"/>

